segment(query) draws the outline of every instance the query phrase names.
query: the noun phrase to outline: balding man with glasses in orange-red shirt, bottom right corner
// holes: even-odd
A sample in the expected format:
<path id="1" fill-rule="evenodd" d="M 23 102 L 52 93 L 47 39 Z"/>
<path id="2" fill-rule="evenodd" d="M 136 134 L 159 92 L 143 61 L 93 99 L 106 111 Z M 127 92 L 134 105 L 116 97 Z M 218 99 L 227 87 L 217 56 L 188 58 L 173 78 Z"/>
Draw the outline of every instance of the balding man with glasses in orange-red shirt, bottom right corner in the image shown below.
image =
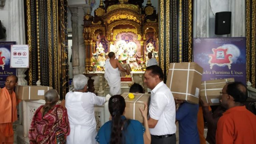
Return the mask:
<path id="1" fill-rule="evenodd" d="M 256 115 L 243 105 L 248 97 L 246 86 L 227 83 L 221 94 L 220 101 L 227 111 L 219 118 L 216 144 L 256 144 Z"/>

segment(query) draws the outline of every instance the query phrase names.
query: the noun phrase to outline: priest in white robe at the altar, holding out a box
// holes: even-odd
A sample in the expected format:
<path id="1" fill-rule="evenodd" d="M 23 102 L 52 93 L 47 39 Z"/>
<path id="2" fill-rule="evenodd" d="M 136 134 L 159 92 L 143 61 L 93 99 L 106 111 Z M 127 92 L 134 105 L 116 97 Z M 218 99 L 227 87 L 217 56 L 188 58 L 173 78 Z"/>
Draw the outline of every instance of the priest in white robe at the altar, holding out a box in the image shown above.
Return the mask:
<path id="1" fill-rule="evenodd" d="M 121 94 L 121 79 L 120 71 L 129 72 L 129 70 L 124 69 L 118 60 L 115 59 L 115 53 L 109 52 L 109 59 L 106 60 L 105 64 L 105 74 L 104 77 L 108 81 L 110 94 L 120 95 Z"/>

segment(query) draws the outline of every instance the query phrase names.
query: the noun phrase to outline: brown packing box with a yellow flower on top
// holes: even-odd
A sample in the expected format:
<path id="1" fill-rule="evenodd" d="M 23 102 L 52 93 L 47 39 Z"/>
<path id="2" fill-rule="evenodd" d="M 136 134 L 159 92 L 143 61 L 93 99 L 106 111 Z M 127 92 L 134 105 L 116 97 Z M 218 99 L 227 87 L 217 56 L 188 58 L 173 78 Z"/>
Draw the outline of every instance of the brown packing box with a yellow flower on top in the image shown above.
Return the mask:
<path id="1" fill-rule="evenodd" d="M 133 93 L 133 99 L 130 99 L 128 97 L 128 94 L 129 93 L 122 94 L 122 96 L 125 98 L 126 103 L 125 117 L 128 119 L 136 119 L 139 122 L 143 123 L 143 117 L 141 115 L 139 107 L 145 108 L 144 102 L 148 104 L 150 94 Z"/>

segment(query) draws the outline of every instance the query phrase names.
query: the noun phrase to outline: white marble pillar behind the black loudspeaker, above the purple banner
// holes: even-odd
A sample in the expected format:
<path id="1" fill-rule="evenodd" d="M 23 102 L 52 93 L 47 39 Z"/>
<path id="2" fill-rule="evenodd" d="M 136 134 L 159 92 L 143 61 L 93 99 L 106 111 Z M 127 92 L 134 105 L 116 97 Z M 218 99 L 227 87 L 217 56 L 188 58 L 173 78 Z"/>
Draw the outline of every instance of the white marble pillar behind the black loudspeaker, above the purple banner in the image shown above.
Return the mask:
<path id="1" fill-rule="evenodd" d="M 215 35 L 215 13 L 230 11 L 228 35 Z M 194 0 L 194 37 L 245 36 L 245 0 Z"/>

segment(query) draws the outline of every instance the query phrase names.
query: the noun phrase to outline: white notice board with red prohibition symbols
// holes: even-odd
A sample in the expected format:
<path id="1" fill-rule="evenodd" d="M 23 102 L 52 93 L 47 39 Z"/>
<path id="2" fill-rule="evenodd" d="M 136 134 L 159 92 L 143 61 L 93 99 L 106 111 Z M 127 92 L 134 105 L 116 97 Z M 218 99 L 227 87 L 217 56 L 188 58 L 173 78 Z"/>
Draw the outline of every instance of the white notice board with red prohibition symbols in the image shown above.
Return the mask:
<path id="1" fill-rule="evenodd" d="M 11 68 L 29 68 L 28 45 L 11 45 Z"/>

